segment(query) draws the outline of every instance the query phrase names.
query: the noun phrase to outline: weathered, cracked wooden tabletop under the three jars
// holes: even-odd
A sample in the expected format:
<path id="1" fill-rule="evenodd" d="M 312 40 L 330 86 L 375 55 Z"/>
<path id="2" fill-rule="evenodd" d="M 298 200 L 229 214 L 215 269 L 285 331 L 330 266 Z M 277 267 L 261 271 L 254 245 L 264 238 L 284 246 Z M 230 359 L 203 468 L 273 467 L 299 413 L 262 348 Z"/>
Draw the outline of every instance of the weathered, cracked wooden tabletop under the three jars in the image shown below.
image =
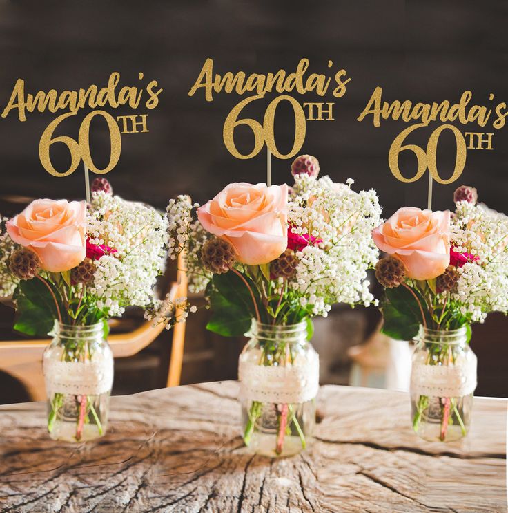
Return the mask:
<path id="1" fill-rule="evenodd" d="M 2 512 L 506 512 L 507 401 L 469 436 L 420 440 L 405 393 L 324 386 L 303 454 L 249 454 L 236 382 L 115 397 L 108 434 L 48 438 L 46 404 L 0 407 Z"/>

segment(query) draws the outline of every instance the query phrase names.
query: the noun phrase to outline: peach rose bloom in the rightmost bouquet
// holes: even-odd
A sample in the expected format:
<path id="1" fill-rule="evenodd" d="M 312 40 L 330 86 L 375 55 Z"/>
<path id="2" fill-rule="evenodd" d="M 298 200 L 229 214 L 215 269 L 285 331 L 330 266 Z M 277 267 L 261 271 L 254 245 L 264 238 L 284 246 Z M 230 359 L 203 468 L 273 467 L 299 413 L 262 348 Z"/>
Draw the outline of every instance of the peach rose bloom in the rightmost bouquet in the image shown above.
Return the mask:
<path id="1" fill-rule="evenodd" d="M 402 207 L 375 228 L 372 237 L 381 251 L 404 263 L 409 278 L 436 278 L 450 263 L 449 210 Z"/>

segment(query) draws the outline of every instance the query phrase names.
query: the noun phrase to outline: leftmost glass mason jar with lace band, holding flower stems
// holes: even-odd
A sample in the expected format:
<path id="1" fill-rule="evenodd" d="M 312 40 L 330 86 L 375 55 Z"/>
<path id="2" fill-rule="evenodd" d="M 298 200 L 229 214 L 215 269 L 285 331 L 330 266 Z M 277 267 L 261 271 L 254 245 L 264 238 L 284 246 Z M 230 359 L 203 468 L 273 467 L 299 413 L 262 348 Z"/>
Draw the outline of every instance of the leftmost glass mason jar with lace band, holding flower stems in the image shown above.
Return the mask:
<path id="1" fill-rule="evenodd" d="M 113 386 L 113 353 L 104 323 L 55 322 L 43 355 L 48 395 L 48 433 L 54 440 L 86 442 L 106 433 Z"/>

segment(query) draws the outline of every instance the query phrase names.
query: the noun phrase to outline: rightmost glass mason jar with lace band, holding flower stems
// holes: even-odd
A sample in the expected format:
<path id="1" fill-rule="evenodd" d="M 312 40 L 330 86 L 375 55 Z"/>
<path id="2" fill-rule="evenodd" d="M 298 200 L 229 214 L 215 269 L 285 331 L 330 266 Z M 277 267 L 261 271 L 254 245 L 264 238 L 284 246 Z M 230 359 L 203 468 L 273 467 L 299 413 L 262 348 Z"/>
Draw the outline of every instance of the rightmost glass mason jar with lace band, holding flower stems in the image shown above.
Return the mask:
<path id="1" fill-rule="evenodd" d="M 411 369 L 413 430 L 429 442 L 467 435 L 476 389 L 476 355 L 468 327 L 429 330 L 420 326 Z"/>

